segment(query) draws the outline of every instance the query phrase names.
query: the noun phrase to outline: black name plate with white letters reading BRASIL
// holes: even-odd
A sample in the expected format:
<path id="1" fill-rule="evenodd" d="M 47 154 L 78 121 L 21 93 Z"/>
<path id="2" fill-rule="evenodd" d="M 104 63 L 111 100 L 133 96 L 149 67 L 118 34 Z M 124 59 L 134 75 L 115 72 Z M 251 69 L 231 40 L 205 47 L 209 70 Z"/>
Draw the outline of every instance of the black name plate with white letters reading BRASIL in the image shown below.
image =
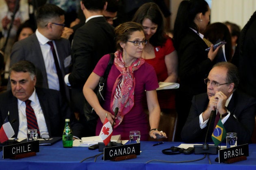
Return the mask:
<path id="1" fill-rule="evenodd" d="M 248 144 L 242 144 L 237 147 L 219 150 L 219 163 L 224 162 L 227 159 L 240 156 L 249 156 Z"/>

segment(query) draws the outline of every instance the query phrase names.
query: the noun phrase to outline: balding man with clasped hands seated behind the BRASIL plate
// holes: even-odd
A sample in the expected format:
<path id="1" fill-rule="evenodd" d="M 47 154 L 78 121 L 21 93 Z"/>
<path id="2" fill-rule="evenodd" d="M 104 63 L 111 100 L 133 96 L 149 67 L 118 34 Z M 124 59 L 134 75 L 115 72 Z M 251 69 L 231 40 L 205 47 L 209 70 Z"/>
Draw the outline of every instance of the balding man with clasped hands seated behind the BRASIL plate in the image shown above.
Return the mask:
<path id="1" fill-rule="evenodd" d="M 249 143 L 255 123 L 256 99 L 237 91 L 239 74 L 236 66 L 220 62 L 210 70 L 207 93 L 193 97 L 187 121 L 182 129 L 184 142 L 204 142 L 209 128 L 207 142 L 213 142 L 215 118 L 221 119 L 226 132 L 237 133 L 237 144 Z M 209 125 L 210 114 L 214 111 Z"/>

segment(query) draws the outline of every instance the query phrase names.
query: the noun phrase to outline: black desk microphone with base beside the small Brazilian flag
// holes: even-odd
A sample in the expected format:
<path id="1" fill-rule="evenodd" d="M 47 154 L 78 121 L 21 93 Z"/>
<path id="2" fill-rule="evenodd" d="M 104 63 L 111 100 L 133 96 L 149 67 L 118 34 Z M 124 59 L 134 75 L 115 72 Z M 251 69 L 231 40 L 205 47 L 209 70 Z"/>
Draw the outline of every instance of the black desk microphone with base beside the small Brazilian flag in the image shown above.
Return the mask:
<path id="1" fill-rule="evenodd" d="M 195 148 L 195 154 L 201 154 L 201 153 L 210 153 L 210 154 L 217 154 L 219 147 L 215 146 L 215 145 L 210 145 L 208 143 L 206 143 L 207 140 L 207 136 L 208 136 L 208 132 L 209 132 L 209 127 L 210 127 L 210 123 L 212 121 L 213 115 L 216 113 L 215 110 L 212 110 L 210 113 L 210 118 L 209 118 L 209 125 L 208 125 L 208 129 L 206 131 L 206 136 L 205 136 L 205 140 L 204 140 L 204 144 L 202 145 L 194 145 Z"/>

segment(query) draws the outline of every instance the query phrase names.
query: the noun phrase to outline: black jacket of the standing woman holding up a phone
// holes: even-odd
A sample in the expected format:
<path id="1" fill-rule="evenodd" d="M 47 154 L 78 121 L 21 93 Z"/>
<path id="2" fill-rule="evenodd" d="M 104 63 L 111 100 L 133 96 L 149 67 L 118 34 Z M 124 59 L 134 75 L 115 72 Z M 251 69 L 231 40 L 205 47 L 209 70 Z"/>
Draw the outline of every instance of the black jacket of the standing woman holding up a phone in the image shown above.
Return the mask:
<path id="1" fill-rule="evenodd" d="M 208 46 L 204 40 L 191 29 L 182 38 L 178 47 L 179 90 L 191 95 L 191 99 L 193 95 L 206 92 L 204 79 L 213 66 L 211 60 L 208 59 L 206 48 Z"/>

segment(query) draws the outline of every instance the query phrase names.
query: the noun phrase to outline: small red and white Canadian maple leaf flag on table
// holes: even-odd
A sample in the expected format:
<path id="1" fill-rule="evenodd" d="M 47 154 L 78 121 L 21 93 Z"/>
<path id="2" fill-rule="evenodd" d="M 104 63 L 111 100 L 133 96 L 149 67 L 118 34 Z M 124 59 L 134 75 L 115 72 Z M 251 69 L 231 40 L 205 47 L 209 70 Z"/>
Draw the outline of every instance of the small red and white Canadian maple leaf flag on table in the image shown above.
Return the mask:
<path id="1" fill-rule="evenodd" d="M 100 138 L 103 140 L 105 146 L 108 145 L 108 143 L 110 142 L 112 132 L 113 132 L 112 126 L 108 121 L 108 119 L 106 118 L 100 131 Z"/>

